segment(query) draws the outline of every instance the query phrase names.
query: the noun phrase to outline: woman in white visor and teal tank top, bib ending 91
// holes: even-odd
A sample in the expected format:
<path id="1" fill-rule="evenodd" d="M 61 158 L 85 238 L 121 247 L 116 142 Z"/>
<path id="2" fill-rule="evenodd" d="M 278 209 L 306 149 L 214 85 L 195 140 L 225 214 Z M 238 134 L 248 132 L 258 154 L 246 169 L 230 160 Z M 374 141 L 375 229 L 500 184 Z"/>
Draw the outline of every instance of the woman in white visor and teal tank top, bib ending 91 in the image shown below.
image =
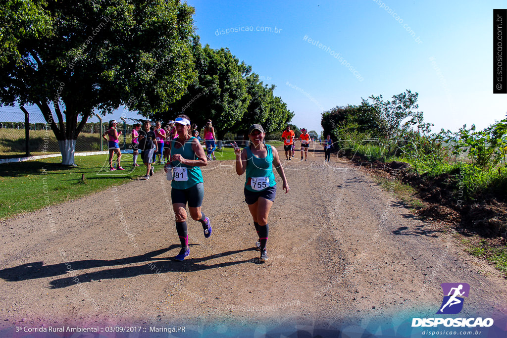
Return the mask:
<path id="1" fill-rule="evenodd" d="M 174 257 L 175 260 L 184 260 L 190 254 L 189 237 L 187 229 L 187 203 L 192 219 L 201 222 L 204 237 L 211 236 L 211 223 L 201 210 L 204 198 L 204 184 L 201 168 L 207 165 L 204 149 L 197 138 L 190 136 L 190 118 L 178 115 L 175 122 L 178 137 L 171 140 L 169 145 L 170 162 L 164 166 L 165 172 L 172 170 L 171 201 L 176 220 L 176 231 L 182 249 Z"/>

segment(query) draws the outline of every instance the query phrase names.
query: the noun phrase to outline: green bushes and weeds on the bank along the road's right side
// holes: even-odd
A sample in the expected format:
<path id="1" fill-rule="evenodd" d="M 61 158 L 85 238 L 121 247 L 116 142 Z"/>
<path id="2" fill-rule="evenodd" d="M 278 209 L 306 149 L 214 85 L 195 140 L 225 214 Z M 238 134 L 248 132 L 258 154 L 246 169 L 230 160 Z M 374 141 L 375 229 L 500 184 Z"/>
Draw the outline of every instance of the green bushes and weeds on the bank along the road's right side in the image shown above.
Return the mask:
<path id="1" fill-rule="evenodd" d="M 396 174 L 400 196 L 417 214 L 455 224 L 469 240 L 467 251 L 507 267 L 507 118 L 483 130 L 431 131 L 410 90 L 389 101 L 370 96 L 360 105 L 322 114 L 322 137 L 357 164 Z M 412 201 L 407 193 L 425 202 Z"/>

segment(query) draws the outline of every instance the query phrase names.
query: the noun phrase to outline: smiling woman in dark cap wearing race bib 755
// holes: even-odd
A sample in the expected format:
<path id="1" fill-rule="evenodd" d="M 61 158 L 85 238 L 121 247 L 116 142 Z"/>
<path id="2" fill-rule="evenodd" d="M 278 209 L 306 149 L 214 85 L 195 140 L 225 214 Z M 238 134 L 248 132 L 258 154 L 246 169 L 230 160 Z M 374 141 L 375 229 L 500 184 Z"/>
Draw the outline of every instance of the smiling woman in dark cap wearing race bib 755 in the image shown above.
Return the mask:
<path id="1" fill-rule="evenodd" d="M 246 171 L 245 202 L 248 204 L 253 225 L 259 235 L 256 249 L 261 251 L 261 261 L 268 259 L 266 250 L 269 233 L 268 215 L 276 195 L 273 164 L 283 181 L 285 194 L 289 191 L 278 152 L 275 147 L 263 143 L 265 136 L 262 126 L 254 124 L 248 128 L 249 146 L 241 149 L 236 142 L 231 143 L 236 154 L 236 173 L 242 175 Z"/>

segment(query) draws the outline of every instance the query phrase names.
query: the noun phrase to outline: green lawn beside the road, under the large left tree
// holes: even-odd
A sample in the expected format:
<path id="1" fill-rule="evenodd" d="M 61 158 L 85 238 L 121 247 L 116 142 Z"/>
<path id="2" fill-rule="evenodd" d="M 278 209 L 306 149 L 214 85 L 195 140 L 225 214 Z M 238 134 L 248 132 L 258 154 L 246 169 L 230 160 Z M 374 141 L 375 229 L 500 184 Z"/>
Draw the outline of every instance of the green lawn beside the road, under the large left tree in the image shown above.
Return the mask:
<path id="1" fill-rule="evenodd" d="M 108 170 L 108 155 L 75 159 L 78 167 L 70 168 L 60 164 L 60 157 L 0 165 L 0 219 L 73 200 L 146 174 L 142 165 L 131 170 L 132 157 L 127 154 L 122 156 L 126 170 L 114 172 Z M 137 162 L 141 162 L 139 158 Z M 82 174 L 86 183 L 81 181 Z"/>

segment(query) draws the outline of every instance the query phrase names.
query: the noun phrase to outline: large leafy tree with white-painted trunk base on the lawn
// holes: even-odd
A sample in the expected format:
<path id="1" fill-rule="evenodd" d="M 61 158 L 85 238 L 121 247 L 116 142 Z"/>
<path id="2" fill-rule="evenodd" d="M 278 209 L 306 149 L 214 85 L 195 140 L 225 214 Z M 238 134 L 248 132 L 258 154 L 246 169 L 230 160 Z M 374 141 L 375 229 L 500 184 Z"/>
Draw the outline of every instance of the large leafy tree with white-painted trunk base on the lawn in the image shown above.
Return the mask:
<path id="1" fill-rule="evenodd" d="M 194 9 L 179 1 L 11 1 L 0 11 L 9 23 L 0 36 L 0 103 L 37 105 L 63 164 L 74 164 L 95 109 L 165 110 L 195 79 Z"/>

